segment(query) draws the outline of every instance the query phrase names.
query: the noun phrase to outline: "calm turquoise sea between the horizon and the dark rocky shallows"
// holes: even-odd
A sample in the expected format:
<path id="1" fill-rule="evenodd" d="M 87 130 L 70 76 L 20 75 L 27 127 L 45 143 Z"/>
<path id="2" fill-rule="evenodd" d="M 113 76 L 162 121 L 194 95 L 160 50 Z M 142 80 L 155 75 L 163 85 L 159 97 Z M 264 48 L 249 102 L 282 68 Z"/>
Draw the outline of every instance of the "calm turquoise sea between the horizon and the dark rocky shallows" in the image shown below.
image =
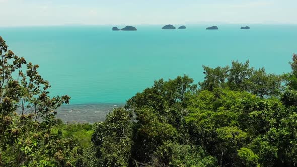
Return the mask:
<path id="1" fill-rule="evenodd" d="M 0 36 L 18 56 L 40 65 L 52 95 L 69 95 L 70 105 L 80 107 L 124 104 L 155 79 L 187 74 L 201 81 L 202 65 L 249 59 L 268 72 L 288 72 L 297 52 L 297 25 L 186 26 L 141 25 L 136 32 L 111 31 L 112 26 L 2 27 Z"/>

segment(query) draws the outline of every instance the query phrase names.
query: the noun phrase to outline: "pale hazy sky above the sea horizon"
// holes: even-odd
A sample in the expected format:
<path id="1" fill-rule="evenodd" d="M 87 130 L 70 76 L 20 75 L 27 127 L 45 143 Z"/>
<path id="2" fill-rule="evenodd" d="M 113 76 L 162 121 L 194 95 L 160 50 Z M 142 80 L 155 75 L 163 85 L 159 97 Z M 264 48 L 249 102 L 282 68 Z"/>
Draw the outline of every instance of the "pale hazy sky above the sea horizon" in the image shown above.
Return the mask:
<path id="1" fill-rule="evenodd" d="M 297 24 L 297 0 L 0 0 L 0 26 Z"/>

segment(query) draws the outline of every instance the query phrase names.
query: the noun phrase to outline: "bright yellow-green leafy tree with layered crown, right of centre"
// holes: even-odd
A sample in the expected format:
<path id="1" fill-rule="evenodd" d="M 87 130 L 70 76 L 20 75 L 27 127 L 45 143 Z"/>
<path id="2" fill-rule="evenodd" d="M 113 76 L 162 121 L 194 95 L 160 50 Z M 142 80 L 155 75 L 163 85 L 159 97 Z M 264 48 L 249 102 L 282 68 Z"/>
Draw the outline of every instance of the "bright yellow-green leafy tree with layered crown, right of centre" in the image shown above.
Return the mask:
<path id="1" fill-rule="evenodd" d="M 244 100 L 256 98 L 245 92 L 215 89 L 202 91 L 191 100 L 186 122 L 196 145 L 216 157 L 220 166 L 235 165 L 237 150 L 246 144 L 240 128 Z"/>

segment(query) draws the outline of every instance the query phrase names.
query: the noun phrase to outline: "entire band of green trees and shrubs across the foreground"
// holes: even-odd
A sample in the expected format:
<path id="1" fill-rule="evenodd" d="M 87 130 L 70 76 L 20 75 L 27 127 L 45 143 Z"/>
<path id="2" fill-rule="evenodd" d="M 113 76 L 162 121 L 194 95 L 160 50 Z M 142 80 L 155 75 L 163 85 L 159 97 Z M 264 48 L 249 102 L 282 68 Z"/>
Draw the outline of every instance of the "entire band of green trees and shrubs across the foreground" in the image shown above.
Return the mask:
<path id="1" fill-rule="evenodd" d="M 297 55 L 276 75 L 250 62 L 156 80 L 103 122 L 55 117 L 38 65 L 0 37 L 0 166 L 296 166 Z"/>

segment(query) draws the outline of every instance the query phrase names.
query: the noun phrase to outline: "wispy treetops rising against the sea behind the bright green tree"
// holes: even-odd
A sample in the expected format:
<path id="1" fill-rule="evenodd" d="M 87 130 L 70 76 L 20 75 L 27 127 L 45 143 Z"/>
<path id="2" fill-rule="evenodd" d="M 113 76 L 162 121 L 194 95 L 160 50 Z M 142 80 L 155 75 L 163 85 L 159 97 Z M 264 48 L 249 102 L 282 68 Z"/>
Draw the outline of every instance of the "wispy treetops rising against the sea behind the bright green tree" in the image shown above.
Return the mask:
<path id="1" fill-rule="evenodd" d="M 229 88 L 232 91 L 246 91 L 261 98 L 280 94 L 282 77 L 267 74 L 264 68 L 255 70 L 249 61 L 232 61 L 232 66 L 210 68 L 203 66 L 205 79 L 199 82 L 201 90 Z"/>

